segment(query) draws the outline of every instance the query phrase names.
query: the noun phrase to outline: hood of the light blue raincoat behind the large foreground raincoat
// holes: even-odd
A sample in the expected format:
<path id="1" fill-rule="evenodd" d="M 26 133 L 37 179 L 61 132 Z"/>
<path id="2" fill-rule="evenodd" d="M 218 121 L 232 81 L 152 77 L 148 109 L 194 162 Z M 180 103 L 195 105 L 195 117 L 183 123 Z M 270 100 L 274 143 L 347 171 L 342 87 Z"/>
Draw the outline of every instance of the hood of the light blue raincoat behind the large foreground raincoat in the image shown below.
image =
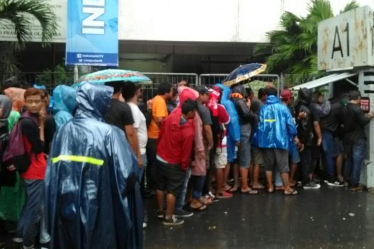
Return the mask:
<path id="1" fill-rule="evenodd" d="M 57 86 L 52 93 L 54 99 L 53 114 L 59 111 L 72 114 L 76 107 L 76 95 L 77 90 L 75 88 L 65 85 Z"/>

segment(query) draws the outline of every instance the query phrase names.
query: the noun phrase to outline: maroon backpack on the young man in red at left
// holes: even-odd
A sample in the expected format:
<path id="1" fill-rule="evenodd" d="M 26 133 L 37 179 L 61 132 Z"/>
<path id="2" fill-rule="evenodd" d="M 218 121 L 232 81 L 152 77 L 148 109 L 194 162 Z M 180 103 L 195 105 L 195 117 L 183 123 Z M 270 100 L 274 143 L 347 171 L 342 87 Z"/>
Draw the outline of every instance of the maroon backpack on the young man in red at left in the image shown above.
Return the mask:
<path id="1" fill-rule="evenodd" d="M 23 113 L 10 132 L 8 143 L 2 155 L 2 160 L 12 162 L 19 173 L 26 172 L 31 164 L 30 155 L 23 143 L 20 123 L 22 119 L 31 119 L 35 125 L 39 126 L 38 120 L 35 117 L 31 116 L 28 112 Z"/>

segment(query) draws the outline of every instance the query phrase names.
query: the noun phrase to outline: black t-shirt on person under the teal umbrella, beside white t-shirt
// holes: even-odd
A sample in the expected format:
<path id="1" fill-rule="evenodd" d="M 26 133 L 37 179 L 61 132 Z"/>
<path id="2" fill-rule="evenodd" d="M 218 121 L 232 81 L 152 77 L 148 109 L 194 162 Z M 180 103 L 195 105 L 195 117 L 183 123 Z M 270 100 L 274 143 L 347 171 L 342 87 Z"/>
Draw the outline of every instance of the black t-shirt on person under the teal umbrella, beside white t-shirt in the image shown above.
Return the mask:
<path id="1" fill-rule="evenodd" d="M 111 99 L 110 107 L 105 116 L 105 121 L 108 124 L 117 126 L 123 131 L 125 131 L 126 125 L 134 124 L 134 118 L 130 106 L 116 99 Z"/>

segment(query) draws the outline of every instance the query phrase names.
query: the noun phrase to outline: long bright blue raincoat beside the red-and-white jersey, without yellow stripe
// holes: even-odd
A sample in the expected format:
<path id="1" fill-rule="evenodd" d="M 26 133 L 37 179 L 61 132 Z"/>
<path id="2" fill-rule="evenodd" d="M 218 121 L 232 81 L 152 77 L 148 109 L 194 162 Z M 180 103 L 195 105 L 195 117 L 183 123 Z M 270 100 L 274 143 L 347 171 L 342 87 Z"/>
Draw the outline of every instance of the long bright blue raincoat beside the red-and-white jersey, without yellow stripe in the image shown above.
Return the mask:
<path id="1" fill-rule="evenodd" d="M 233 162 L 236 158 L 235 143 L 240 141 L 240 124 L 234 103 L 230 101 L 230 89 L 222 84 L 216 84 L 222 89 L 221 104 L 226 108 L 230 116 L 230 123 L 227 126 L 227 161 Z"/>

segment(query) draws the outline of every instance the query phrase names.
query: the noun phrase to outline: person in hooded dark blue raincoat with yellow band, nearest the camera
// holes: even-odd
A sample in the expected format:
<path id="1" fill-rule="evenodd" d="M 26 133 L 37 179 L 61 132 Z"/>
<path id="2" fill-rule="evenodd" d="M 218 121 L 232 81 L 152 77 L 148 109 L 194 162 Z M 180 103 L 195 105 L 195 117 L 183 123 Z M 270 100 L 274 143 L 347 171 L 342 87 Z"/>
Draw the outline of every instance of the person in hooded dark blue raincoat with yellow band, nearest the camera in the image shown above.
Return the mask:
<path id="1" fill-rule="evenodd" d="M 50 152 L 46 217 L 52 249 L 142 248 L 138 163 L 122 130 L 103 123 L 113 89 L 84 84 Z"/>

